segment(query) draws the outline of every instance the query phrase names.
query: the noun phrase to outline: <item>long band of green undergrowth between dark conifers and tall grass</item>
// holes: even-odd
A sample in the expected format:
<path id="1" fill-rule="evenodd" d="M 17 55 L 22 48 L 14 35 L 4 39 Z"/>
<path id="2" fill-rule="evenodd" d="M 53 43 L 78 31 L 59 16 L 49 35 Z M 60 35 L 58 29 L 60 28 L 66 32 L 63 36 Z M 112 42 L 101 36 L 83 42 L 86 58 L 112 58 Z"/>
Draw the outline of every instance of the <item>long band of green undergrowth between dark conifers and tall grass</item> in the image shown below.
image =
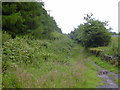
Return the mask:
<path id="1" fill-rule="evenodd" d="M 3 61 L 34 66 L 40 66 L 44 61 L 64 61 L 71 46 L 72 41 L 66 37 L 55 41 L 16 37 L 3 43 Z"/>

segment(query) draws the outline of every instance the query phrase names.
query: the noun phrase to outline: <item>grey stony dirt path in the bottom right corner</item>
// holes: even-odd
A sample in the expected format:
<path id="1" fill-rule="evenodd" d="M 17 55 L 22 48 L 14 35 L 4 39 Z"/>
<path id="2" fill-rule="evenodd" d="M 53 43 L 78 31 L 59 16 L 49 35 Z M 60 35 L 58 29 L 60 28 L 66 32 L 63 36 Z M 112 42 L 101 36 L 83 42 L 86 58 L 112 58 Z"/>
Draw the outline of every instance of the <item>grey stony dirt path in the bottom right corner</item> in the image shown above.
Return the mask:
<path id="1" fill-rule="evenodd" d="M 94 63 L 93 61 L 91 61 Z M 105 70 L 94 63 L 99 71 Z M 103 85 L 97 86 L 97 88 L 118 88 L 118 84 L 115 83 L 115 79 L 118 79 L 118 74 L 108 71 L 108 74 L 101 74 L 98 77 L 103 79 Z"/>

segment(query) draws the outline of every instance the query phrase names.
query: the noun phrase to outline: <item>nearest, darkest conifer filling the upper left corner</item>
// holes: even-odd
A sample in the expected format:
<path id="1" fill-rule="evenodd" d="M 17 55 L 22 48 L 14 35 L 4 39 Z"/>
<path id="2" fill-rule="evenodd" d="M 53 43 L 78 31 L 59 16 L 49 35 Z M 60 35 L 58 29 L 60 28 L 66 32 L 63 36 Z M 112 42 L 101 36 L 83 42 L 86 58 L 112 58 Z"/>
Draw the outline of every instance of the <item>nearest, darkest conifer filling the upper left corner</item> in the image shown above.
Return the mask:
<path id="1" fill-rule="evenodd" d="M 3 2 L 3 30 L 12 34 L 25 34 L 37 28 L 41 4 L 36 2 Z"/>

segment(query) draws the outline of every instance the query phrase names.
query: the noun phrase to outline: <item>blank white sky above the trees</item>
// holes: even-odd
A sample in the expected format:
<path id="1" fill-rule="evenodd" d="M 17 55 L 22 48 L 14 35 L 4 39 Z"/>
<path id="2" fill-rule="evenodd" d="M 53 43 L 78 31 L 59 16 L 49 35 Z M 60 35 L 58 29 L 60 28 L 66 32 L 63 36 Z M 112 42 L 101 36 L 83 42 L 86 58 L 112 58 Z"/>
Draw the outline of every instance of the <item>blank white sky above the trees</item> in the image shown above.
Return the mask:
<path id="1" fill-rule="evenodd" d="M 120 0 L 42 0 L 63 33 L 70 33 L 83 24 L 84 16 L 93 13 L 95 19 L 109 21 L 112 32 L 118 32 L 118 2 Z"/>

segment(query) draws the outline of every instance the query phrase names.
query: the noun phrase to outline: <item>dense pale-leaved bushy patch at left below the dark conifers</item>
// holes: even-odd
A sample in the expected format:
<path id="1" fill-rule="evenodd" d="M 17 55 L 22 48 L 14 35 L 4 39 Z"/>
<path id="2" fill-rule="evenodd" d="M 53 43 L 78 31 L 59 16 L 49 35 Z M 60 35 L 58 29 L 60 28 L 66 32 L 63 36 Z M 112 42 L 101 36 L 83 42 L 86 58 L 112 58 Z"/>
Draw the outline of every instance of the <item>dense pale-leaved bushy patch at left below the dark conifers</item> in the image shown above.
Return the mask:
<path id="1" fill-rule="evenodd" d="M 40 41 L 21 38 L 10 39 L 3 44 L 3 61 L 36 65 L 52 56 L 52 53 L 44 50 L 46 47 L 48 45 Z"/>

